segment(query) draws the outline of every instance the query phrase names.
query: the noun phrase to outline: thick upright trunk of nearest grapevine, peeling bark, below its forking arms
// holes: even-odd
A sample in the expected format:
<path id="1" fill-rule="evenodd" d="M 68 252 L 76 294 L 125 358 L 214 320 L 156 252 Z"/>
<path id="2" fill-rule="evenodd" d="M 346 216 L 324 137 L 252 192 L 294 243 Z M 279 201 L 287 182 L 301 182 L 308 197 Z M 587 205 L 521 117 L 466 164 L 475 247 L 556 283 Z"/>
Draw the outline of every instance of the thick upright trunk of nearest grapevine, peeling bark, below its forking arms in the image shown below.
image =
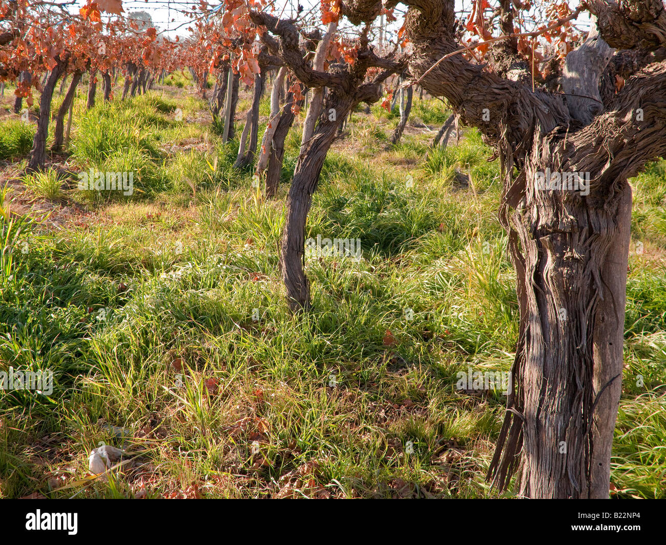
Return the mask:
<path id="1" fill-rule="evenodd" d="M 522 496 L 605 498 L 621 391 L 631 190 L 617 180 L 603 202 L 543 190 L 537 173 L 567 172 L 561 154 L 543 146 L 525 167 L 525 197 L 509 224 L 521 307 L 518 389 L 490 474 L 506 486 L 522 453 Z"/>

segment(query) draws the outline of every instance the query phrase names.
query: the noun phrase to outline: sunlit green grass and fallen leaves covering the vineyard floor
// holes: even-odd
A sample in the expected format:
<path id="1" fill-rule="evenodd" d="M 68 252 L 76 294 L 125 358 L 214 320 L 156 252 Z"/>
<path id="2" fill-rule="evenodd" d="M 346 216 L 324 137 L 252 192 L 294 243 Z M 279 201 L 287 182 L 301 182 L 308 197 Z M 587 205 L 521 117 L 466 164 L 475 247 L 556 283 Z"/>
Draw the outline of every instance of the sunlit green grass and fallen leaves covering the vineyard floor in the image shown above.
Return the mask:
<path id="1" fill-rule="evenodd" d="M 505 398 L 456 389 L 468 367 L 509 369 L 517 335 L 480 136 L 429 150 L 419 123 L 448 112 L 417 99 L 386 149 L 395 115 L 354 113 L 307 229 L 360 239 L 363 258 L 308 260 L 313 310 L 292 315 L 277 248 L 302 118 L 264 202 L 188 78 L 166 83 L 89 112 L 82 85 L 69 153 L 37 176 L 21 174 L 34 122 L 0 110 L 16 213 L 0 218 L 0 367 L 55 375 L 51 396 L 0 392 L 0 497 L 495 496 Z M 89 168 L 135 172 L 134 194 L 77 190 Z M 633 185 L 611 480 L 616 497 L 665 498 L 666 162 Z M 131 454 L 106 480 L 87 476 L 101 443 Z"/>

